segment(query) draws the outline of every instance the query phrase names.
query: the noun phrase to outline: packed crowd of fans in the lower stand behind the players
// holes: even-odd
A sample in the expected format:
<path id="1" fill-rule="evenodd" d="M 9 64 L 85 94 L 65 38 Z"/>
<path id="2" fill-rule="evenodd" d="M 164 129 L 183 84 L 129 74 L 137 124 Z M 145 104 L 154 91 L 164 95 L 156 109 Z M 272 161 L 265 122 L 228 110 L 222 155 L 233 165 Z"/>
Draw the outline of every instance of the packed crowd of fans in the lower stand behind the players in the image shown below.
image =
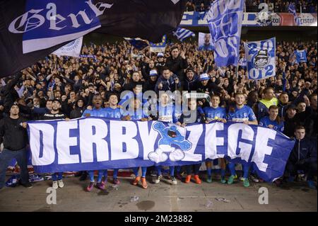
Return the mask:
<path id="1" fill-rule="evenodd" d="M 307 51 L 307 62 L 295 62 L 293 52 L 297 49 Z M 158 54 L 149 49 L 136 50 L 126 41 L 90 43 L 83 46 L 81 55 L 79 58 L 49 55 L 14 77 L 2 78 L 0 119 L 10 115 L 13 105 L 18 106 L 20 115 L 27 120 L 48 119 L 45 117 L 49 115 L 44 118 L 43 115 L 52 112 L 61 113 L 62 118 L 79 118 L 97 103 L 102 108 L 117 102 L 120 105 L 122 91 L 136 94 L 138 87 L 142 87 L 142 92 L 157 94 L 196 91 L 211 96 L 212 105 L 225 108 L 225 120 L 230 118 L 233 106 L 242 101 L 253 110 L 252 124 L 258 122 L 295 137 L 299 142 L 286 166 L 289 176 L 295 176 L 300 169 L 312 174 L 314 167 L 317 173 L 317 42 L 276 43 L 276 77 L 259 81 L 247 77 L 242 63 L 243 45 L 239 67 L 216 67 L 213 52 L 198 51 L 197 43 L 170 43 L 164 53 Z M 113 101 L 111 96 L 117 96 L 119 101 Z M 210 103 L 200 99 L 197 105 L 204 109 Z M 124 120 L 128 119 L 131 117 L 126 115 Z M 184 120 L 177 123 L 182 125 Z M 269 120 L 276 121 L 277 126 L 268 123 Z M 307 151 L 300 154 L 300 147 Z M 253 176 L 255 182 L 259 181 L 256 177 Z"/>

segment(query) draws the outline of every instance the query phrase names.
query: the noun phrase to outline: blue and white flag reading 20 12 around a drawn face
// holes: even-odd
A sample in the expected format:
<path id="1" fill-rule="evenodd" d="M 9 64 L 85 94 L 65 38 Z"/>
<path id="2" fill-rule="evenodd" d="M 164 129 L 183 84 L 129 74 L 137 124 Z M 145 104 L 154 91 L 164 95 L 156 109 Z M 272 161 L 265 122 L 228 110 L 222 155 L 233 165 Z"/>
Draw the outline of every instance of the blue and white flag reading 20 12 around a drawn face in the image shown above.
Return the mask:
<path id="1" fill-rule="evenodd" d="M 267 79 L 276 74 L 276 39 L 244 43 L 249 79 Z"/>

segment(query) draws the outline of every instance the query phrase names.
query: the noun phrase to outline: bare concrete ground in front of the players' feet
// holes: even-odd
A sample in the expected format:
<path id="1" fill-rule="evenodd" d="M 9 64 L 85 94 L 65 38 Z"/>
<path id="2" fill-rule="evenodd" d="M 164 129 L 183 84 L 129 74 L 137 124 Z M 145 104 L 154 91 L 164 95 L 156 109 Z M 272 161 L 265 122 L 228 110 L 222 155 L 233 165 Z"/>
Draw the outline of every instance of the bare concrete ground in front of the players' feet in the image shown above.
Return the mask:
<path id="1" fill-rule="evenodd" d="M 33 188 L 17 186 L 0 190 L 0 211 L 317 211 L 317 191 L 304 183 L 293 183 L 278 188 L 269 183 L 251 183 L 249 188 L 242 182 L 226 185 L 219 181 L 181 183 L 170 185 L 169 180 L 158 184 L 149 182 L 148 189 L 132 186 L 131 179 L 121 178 L 114 188 L 107 183 L 106 190 L 86 192 L 88 181 L 78 177 L 64 179 L 64 188 L 57 189 L 57 204 L 47 204 L 47 188 L 51 181 L 33 183 Z M 269 190 L 269 204 L 260 205 L 259 188 Z M 132 196 L 139 200 L 131 201 Z M 225 198 L 230 202 L 217 200 Z"/>

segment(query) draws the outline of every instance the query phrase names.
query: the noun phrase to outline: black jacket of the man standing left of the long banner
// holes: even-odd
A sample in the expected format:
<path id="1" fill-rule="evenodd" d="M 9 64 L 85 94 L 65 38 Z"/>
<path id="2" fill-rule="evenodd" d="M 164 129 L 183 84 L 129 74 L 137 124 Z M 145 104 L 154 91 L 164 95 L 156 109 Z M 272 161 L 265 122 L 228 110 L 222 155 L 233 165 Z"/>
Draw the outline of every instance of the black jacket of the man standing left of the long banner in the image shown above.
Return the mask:
<path id="1" fill-rule="evenodd" d="M 6 117 L 0 120 L 0 144 L 4 142 L 4 148 L 18 151 L 28 145 L 28 132 L 20 125 L 24 122 L 26 120 L 22 117 Z"/>

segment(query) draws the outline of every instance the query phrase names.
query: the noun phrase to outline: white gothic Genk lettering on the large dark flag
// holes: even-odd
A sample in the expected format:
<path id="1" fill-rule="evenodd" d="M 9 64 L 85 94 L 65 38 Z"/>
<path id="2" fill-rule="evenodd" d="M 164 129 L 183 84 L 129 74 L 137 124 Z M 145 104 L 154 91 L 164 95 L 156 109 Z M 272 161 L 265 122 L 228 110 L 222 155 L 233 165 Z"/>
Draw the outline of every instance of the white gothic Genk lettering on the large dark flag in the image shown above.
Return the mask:
<path id="1" fill-rule="evenodd" d="M 110 9 L 113 5 L 103 3 L 93 4 L 92 0 L 85 1 L 85 3 L 88 4 L 89 8 L 95 13 L 96 17 L 102 15 L 105 9 Z M 81 24 L 78 23 L 79 16 L 81 16 L 82 20 L 86 24 L 90 24 L 93 21 L 93 18 L 88 17 L 86 9 L 78 11 L 76 14 L 69 13 L 66 17 L 57 14 L 57 6 L 54 3 L 47 4 L 46 9 L 46 16 L 42 16 L 40 14 L 45 9 L 31 9 L 30 11 L 25 12 L 10 23 L 8 30 L 11 33 L 26 33 L 42 26 L 43 23 L 45 23 L 45 19 L 49 21 L 49 29 L 51 30 L 61 30 L 66 28 L 65 25 L 62 25 L 62 22 L 67 19 L 71 20 L 73 28 L 78 28 L 81 26 Z"/>

